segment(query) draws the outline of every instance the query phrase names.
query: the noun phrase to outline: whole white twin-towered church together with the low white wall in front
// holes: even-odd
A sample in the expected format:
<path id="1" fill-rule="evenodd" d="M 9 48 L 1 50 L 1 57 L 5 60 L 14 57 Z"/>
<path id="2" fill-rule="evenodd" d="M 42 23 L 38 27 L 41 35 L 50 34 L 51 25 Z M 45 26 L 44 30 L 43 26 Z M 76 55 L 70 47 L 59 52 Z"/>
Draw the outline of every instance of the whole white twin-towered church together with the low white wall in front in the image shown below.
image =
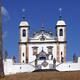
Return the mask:
<path id="1" fill-rule="evenodd" d="M 4 74 L 11 75 L 35 70 L 79 71 L 80 58 L 77 63 L 66 61 L 66 23 L 61 18 L 55 25 L 55 35 L 40 31 L 29 36 L 30 25 L 23 18 L 19 24 L 19 63 L 13 59 L 3 59 Z"/>

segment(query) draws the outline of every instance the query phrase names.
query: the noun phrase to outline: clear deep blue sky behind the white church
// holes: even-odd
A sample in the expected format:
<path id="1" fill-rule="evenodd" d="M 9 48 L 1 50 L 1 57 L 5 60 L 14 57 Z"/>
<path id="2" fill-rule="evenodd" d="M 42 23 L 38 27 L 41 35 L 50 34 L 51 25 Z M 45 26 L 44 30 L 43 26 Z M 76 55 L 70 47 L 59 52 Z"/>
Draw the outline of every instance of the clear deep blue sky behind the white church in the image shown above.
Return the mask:
<path id="1" fill-rule="evenodd" d="M 55 32 L 59 19 L 59 8 L 67 24 L 67 60 L 72 60 L 75 53 L 80 56 L 80 1 L 79 0 L 3 0 L 3 50 L 9 57 L 18 57 L 19 23 L 22 16 L 30 24 L 30 36 L 34 31 L 51 27 Z M 26 9 L 23 13 L 22 9 Z"/>

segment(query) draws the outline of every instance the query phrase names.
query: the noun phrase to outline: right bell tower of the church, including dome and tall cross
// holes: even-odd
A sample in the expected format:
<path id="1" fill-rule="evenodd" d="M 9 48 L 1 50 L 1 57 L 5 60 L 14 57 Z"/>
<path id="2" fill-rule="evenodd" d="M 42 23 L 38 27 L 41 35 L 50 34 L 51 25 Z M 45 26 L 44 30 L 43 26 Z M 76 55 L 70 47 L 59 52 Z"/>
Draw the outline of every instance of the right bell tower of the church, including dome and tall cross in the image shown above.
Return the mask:
<path id="1" fill-rule="evenodd" d="M 56 24 L 57 31 L 57 43 L 58 43 L 58 61 L 65 62 L 66 61 L 66 23 L 62 19 L 60 9 L 60 17 Z"/>

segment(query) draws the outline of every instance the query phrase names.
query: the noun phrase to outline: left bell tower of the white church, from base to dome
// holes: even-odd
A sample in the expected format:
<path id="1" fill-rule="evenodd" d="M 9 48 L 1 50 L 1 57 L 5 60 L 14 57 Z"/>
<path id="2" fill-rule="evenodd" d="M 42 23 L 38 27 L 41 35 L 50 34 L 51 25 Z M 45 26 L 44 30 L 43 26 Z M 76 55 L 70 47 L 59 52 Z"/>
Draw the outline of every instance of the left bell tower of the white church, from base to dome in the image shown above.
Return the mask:
<path id="1" fill-rule="evenodd" d="M 28 32 L 29 24 L 23 17 L 19 25 L 19 62 L 23 64 L 28 63 Z"/>

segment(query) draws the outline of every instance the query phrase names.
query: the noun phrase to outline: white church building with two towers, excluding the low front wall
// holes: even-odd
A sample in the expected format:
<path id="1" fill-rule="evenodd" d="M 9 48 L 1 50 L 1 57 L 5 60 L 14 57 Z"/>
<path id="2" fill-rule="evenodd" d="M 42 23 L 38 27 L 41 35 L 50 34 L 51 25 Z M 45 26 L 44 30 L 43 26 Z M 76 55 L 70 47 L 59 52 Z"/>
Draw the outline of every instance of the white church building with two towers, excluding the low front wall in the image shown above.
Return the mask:
<path id="1" fill-rule="evenodd" d="M 24 19 L 20 22 L 19 61 L 30 63 L 38 60 L 66 61 L 66 23 L 59 19 L 56 24 L 56 34 L 44 30 L 35 32 L 29 37 L 29 23 Z"/>

